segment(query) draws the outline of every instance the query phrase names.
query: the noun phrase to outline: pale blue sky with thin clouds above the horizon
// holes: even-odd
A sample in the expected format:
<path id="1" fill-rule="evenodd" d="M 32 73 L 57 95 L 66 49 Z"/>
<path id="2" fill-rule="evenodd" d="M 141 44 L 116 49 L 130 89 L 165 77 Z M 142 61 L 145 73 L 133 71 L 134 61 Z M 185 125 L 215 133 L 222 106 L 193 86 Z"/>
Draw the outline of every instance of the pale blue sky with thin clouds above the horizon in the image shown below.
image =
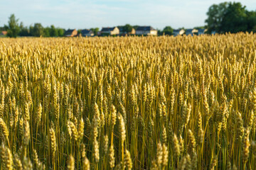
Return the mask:
<path id="1" fill-rule="evenodd" d="M 102 28 L 126 23 L 163 29 L 206 25 L 206 12 L 220 0 L 0 0 L 0 26 L 14 13 L 24 26 Z M 256 10 L 255 0 L 240 0 Z"/>

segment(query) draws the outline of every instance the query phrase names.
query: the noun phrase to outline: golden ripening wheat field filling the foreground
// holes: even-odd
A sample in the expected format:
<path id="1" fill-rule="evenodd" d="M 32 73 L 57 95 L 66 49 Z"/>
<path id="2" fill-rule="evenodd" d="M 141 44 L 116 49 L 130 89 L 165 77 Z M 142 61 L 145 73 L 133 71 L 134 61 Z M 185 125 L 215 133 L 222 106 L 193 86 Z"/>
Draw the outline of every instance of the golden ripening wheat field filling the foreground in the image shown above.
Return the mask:
<path id="1" fill-rule="evenodd" d="M 0 39 L 1 169 L 256 169 L 256 35 Z"/>

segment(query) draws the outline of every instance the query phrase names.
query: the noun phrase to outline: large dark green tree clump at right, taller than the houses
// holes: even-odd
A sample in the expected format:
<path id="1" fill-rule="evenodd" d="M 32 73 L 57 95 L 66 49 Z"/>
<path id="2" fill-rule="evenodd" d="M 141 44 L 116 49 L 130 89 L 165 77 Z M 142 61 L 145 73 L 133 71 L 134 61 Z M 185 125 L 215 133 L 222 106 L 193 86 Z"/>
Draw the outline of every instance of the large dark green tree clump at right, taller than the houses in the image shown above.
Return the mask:
<path id="1" fill-rule="evenodd" d="M 248 11 L 240 2 L 213 4 L 207 15 L 208 33 L 256 32 L 256 11 Z"/>

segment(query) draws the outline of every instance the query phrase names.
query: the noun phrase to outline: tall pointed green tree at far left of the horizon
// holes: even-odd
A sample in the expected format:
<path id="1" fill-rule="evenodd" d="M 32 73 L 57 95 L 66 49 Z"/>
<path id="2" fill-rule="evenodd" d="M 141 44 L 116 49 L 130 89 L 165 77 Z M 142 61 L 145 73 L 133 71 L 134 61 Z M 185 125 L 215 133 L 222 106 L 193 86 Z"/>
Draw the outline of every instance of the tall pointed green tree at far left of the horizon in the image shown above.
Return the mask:
<path id="1" fill-rule="evenodd" d="M 8 26 L 4 26 L 7 30 L 7 36 L 11 38 L 16 38 L 18 33 L 20 32 L 20 28 L 18 26 L 18 19 L 15 18 L 14 14 L 11 14 L 8 21 Z"/>

